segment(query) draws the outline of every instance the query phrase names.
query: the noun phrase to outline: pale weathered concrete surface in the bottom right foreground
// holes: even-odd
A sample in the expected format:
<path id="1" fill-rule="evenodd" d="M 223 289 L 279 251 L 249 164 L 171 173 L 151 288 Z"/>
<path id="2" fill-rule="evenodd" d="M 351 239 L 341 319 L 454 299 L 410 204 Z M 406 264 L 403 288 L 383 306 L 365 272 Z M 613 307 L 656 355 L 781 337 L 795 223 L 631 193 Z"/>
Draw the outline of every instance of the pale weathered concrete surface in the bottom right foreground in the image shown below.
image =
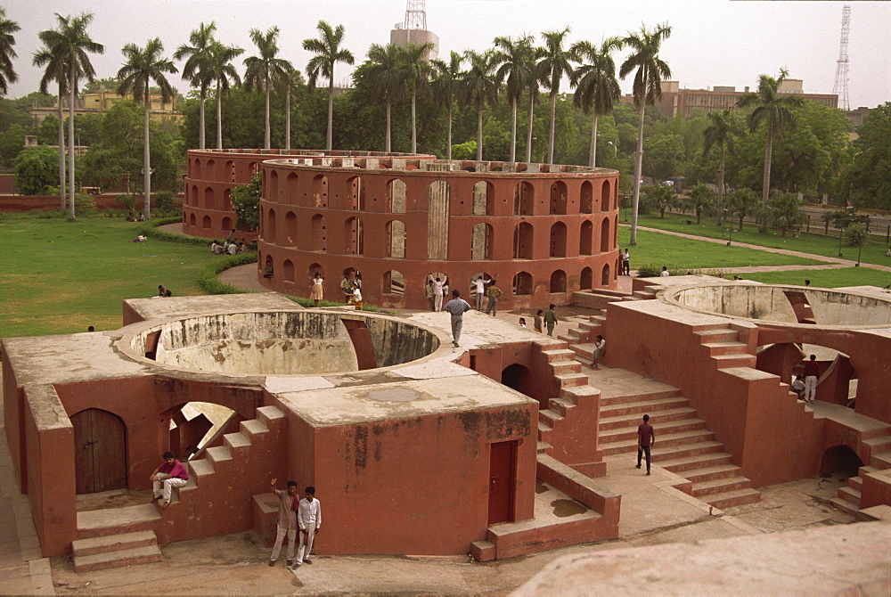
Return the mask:
<path id="1" fill-rule="evenodd" d="M 887 595 L 891 524 L 863 523 L 552 562 L 514 595 Z"/>

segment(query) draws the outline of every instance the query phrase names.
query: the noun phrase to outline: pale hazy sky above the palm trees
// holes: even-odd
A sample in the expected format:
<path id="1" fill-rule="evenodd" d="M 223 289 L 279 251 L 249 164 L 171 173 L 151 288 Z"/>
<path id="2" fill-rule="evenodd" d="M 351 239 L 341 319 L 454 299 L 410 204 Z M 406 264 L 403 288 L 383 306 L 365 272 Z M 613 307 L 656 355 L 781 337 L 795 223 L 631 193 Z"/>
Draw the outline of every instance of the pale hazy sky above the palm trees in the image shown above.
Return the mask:
<path id="1" fill-rule="evenodd" d="M 843 2 L 756 0 L 426 0 L 427 27 L 439 36 L 440 56 L 449 51 L 484 50 L 496 36 L 571 28 L 570 41 L 621 36 L 667 22 L 672 36 L 662 58 L 682 87 L 757 85 L 758 75 L 789 70 L 804 79 L 805 92 L 830 94 L 835 81 Z M 891 101 L 891 2 L 851 2 L 848 45 L 851 107 Z M 217 37 L 254 52 L 249 29 L 281 29 L 280 56 L 304 70 L 310 54 L 301 47 L 316 37 L 318 20 L 346 27 L 346 46 L 363 61 L 368 46 L 385 44 L 405 17 L 405 0 L 0 0 L 7 17 L 18 21 L 15 68 L 20 82 L 10 96 L 37 89 L 40 71 L 31 66 L 37 32 L 55 26 L 53 13 L 93 12 L 90 33 L 105 45 L 93 58 L 99 77 L 120 68 L 120 48 L 160 37 L 167 55 L 188 41 L 200 22 L 215 20 Z M 625 53 L 617 54 L 617 63 Z M 181 65 L 180 65 L 181 66 Z M 243 67 L 239 64 L 240 70 Z M 339 66 L 335 80 L 348 81 L 350 67 Z M 171 78 L 184 93 L 179 75 Z M 630 78 L 621 82 L 630 92 Z M 564 90 L 568 91 L 567 87 Z"/>

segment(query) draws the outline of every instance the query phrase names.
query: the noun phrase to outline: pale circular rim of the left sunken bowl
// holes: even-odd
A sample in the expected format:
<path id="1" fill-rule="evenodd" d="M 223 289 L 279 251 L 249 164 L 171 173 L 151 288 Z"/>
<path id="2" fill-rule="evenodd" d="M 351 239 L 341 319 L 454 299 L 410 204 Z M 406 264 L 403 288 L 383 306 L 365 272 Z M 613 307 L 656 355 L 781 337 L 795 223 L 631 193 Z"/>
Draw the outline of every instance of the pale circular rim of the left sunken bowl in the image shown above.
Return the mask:
<path id="1" fill-rule="evenodd" d="M 151 328 L 161 327 L 166 323 L 178 322 L 184 319 L 194 319 L 197 317 L 207 317 L 214 315 L 241 315 L 241 314 L 249 314 L 249 313 L 327 313 L 331 315 L 339 315 L 340 319 L 355 319 L 357 317 L 360 318 L 374 318 L 374 319 L 385 319 L 388 321 L 396 322 L 396 323 L 407 323 L 408 325 L 413 325 L 414 327 L 421 328 L 424 331 L 428 331 L 433 334 L 439 340 L 439 348 L 429 353 L 429 355 L 421 356 L 420 358 L 416 358 L 413 361 L 406 361 L 405 363 L 392 364 L 388 367 L 375 367 L 374 369 L 355 369 L 349 371 L 339 371 L 339 372 L 314 372 L 314 373 L 232 373 L 232 372 L 213 372 L 206 371 L 203 369 L 189 369 L 187 367 L 178 367 L 173 364 L 168 363 L 160 363 L 159 361 L 154 361 L 150 358 L 147 358 L 144 355 L 140 355 L 135 353 L 132 344 L 133 339 L 136 335 L 143 333 L 144 331 L 149 331 Z M 406 367 L 409 365 L 416 365 L 427 362 L 434 358 L 444 358 L 446 356 L 454 354 L 454 348 L 452 347 L 452 339 L 446 331 L 439 330 L 438 328 L 429 326 L 424 323 L 418 323 L 414 321 L 407 321 L 401 317 L 394 317 L 392 315 L 382 315 L 382 314 L 372 314 L 371 312 L 363 311 L 362 315 L 354 315 L 355 311 L 343 311 L 340 309 L 331 309 L 331 308 L 257 308 L 257 309 L 239 309 L 237 311 L 233 311 L 231 309 L 220 309 L 220 310 L 210 310 L 210 311 L 200 311 L 196 313 L 192 313 L 189 315 L 177 315 L 174 317 L 158 317 L 154 319 L 147 319 L 143 322 L 131 323 L 124 328 L 121 328 L 121 336 L 119 339 L 115 340 L 114 346 L 119 351 L 119 353 L 127 358 L 135 361 L 139 364 L 150 365 L 151 367 L 158 367 L 167 372 L 179 372 L 188 375 L 200 375 L 200 376 L 210 376 L 214 379 L 218 379 L 219 377 L 230 378 L 233 380 L 247 380 L 247 379 L 257 379 L 257 378 L 266 378 L 266 377 L 320 377 L 320 376 L 337 376 L 337 375 L 348 375 L 352 373 L 365 373 L 365 372 L 386 372 L 393 371 L 399 369 L 400 367 Z M 343 317 L 346 315 L 346 317 Z"/>

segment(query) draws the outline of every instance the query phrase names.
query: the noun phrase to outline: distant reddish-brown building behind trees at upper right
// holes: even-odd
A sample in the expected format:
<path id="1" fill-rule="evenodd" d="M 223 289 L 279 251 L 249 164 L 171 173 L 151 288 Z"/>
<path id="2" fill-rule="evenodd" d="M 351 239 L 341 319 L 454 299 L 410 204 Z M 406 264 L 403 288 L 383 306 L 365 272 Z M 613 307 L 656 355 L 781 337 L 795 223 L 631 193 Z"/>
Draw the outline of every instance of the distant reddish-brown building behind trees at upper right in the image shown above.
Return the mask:
<path id="1" fill-rule="evenodd" d="M 714 86 L 712 89 L 682 89 L 677 81 L 663 81 L 662 101 L 657 105 L 666 116 L 688 118 L 693 110 L 705 112 L 736 110 L 736 102 L 740 96 L 748 93 L 748 86 L 743 91 L 737 91 L 733 86 Z M 838 108 L 837 94 L 805 94 L 803 81 L 800 78 L 787 78 L 782 82 L 780 93 L 797 94 L 830 108 Z M 627 94 L 622 97 L 622 103 L 634 104 L 634 97 Z"/>

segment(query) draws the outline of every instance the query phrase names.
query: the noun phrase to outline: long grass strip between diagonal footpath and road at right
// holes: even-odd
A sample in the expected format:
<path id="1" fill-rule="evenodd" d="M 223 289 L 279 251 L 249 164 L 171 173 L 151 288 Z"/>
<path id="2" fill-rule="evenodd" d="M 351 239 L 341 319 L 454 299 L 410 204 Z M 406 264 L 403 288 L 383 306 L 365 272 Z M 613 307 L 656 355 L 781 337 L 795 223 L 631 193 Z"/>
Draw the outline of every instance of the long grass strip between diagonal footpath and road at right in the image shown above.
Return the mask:
<path id="1" fill-rule="evenodd" d="M 622 216 L 625 216 L 624 210 Z M 691 220 L 693 224 L 684 224 L 687 220 Z M 622 224 L 625 224 L 624 220 L 621 222 Z M 795 238 L 792 233 L 788 233 L 786 238 L 783 238 L 779 232 L 774 230 L 769 230 L 766 234 L 759 233 L 756 225 L 751 224 L 746 224 L 743 227 L 742 232 L 738 232 L 736 230 L 736 225 L 738 224 L 739 222 L 734 223 L 733 242 L 748 242 L 749 244 L 770 247 L 772 249 L 789 249 L 802 251 L 804 253 L 813 253 L 814 255 L 823 255 L 826 257 L 838 257 L 838 236 L 827 237 L 804 233 L 798 238 Z M 717 227 L 717 225 L 715 225 L 714 217 L 703 217 L 702 224 L 697 225 L 695 216 L 666 213 L 665 218 L 660 218 L 658 217 L 658 214 L 656 214 L 641 216 L 638 219 L 638 225 L 649 228 L 658 228 L 660 230 L 669 230 L 676 233 L 695 234 L 697 236 L 706 236 L 707 238 L 727 240 L 727 233 L 724 229 L 728 226 L 723 225 L 720 228 Z M 814 227 L 812 226 L 811 229 L 814 230 Z M 619 237 L 621 238 L 622 228 L 619 230 Z M 627 230 L 627 228 L 625 228 L 625 230 Z M 816 230 L 822 232 L 822 225 L 817 226 Z M 638 235 L 640 236 L 640 233 L 638 233 Z M 625 238 L 627 238 L 627 235 Z M 640 243 L 640 239 L 638 242 Z M 861 260 L 865 263 L 891 266 L 891 258 L 885 257 L 886 251 L 887 244 L 883 242 L 871 242 L 863 247 Z M 847 247 L 844 242 L 842 243 L 841 252 L 847 259 L 857 258 L 857 248 Z"/>

